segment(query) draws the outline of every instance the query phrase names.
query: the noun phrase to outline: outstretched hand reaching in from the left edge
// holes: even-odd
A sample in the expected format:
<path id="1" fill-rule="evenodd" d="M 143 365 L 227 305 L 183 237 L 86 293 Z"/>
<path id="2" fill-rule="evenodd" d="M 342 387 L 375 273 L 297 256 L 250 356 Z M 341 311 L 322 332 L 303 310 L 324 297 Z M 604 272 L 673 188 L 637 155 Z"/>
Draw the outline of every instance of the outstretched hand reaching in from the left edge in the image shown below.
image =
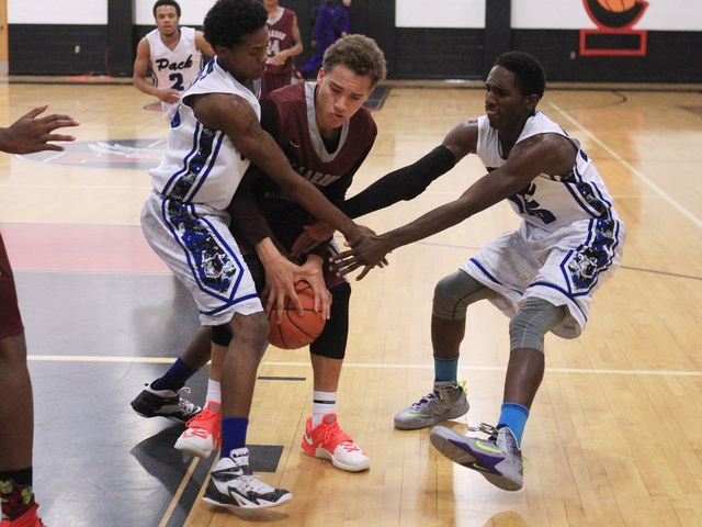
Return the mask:
<path id="1" fill-rule="evenodd" d="M 53 134 L 57 128 L 78 126 L 80 123 L 69 115 L 52 114 L 36 119 L 48 104 L 35 108 L 18 119 L 7 128 L 0 128 L 0 150 L 9 154 L 34 154 L 43 150 L 63 152 L 65 148 L 52 141 L 76 141 L 72 135 Z"/>

